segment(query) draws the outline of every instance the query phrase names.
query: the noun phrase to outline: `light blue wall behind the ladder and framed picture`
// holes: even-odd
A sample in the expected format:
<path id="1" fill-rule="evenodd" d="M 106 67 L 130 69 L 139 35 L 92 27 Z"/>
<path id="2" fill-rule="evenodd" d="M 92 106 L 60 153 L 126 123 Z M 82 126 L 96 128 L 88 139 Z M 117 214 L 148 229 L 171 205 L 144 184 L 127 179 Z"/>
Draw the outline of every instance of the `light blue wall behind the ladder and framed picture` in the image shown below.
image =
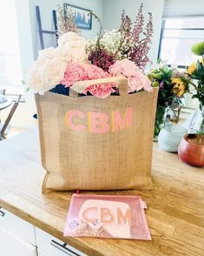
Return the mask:
<path id="1" fill-rule="evenodd" d="M 57 5 L 63 6 L 63 3 L 70 3 L 85 9 L 93 10 L 95 14 L 103 18 L 103 0 L 29 0 L 30 3 L 30 22 L 33 40 L 34 56 L 37 57 L 37 51 L 40 50 L 38 28 L 36 23 L 36 5 L 40 7 L 43 30 L 54 30 L 52 10 L 57 9 Z M 99 25 L 93 20 L 92 30 L 81 30 L 82 36 L 86 38 L 95 37 L 98 33 Z M 45 48 L 55 45 L 55 36 L 43 35 Z"/>

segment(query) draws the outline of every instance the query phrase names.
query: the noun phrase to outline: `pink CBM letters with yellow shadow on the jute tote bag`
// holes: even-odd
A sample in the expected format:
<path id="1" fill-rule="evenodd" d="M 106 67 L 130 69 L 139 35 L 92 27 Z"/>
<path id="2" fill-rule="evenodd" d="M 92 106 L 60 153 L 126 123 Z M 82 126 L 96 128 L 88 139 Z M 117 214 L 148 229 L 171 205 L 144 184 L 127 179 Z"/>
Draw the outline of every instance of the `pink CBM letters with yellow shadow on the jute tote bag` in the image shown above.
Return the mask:
<path id="1" fill-rule="evenodd" d="M 133 108 L 128 107 L 122 117 L 119 111 L 113 111 L 111 120 L 109 115 L 102 112 L 89 111 L 88 125 L 84 124 L 85 114 L 82 111 L 70 110 L 65 114 L 65 123 L 74 131 L 89 131 L 93 133 L 108 132 L 112 125 L 112 131 L 129 128 L 133 124 Z"/>

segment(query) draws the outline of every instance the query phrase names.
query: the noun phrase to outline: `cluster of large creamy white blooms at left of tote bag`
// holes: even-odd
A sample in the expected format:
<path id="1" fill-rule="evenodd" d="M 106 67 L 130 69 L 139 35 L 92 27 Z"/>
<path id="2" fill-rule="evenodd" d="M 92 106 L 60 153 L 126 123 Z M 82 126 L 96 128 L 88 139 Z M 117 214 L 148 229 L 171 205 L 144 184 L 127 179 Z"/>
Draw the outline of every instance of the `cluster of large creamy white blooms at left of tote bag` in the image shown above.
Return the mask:
<path id="1" fill-rule="evenodd" d="M 34 92 L 43 94 L 63 80 L 67 64 L 71 62 L 88 63 L 87 41 L 74 32 L 64 34 L 58 40 L 58 47 L 39 51 L 33 64 L 29 85 Z"/>

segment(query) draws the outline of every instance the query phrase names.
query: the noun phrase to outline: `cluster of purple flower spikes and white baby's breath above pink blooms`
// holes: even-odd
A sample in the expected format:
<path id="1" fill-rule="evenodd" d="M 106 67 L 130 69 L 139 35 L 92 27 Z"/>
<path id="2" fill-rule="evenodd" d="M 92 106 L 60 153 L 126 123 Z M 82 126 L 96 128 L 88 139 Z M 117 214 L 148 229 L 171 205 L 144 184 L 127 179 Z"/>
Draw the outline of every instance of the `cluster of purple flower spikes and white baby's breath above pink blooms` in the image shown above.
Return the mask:
<path id="1" fill-rule="evenodd" d="M 119 30 L 106 31 L 102 35 L 102 23 L 100 19 L 93 14 L 100 23 L 100 32 L 96 39 L 89 40 L 87 51 L 89 60 L 92 64 L 102 67 L 102 59 L 109 59 L 109 64 L 113 64 L 116 60 L 128 58 L 133 61 L 141 70 L 148 62 L 148 51 L 150 49 L 151 37 L 153 36 L 153 17 L 148 13 L 148 23 L 144 28 L 143 4 L 136 16 L 135 27 L 132 30 L 132 21 L 125 11 L 122 11 L 122 21 Z M 104 68 L 104 67 L 102 67 Z"/>

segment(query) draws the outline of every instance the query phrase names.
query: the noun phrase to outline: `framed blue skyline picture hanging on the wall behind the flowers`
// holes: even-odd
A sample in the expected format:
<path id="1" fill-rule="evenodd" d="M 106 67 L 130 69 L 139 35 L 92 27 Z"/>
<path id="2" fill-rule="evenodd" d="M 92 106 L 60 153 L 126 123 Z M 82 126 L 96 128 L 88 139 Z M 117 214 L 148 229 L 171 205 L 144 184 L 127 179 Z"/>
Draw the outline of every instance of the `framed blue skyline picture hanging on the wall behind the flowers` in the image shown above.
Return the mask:
<path id="1" fill-rule="evenodd" d="M 69 3 L 63 3 L 64 11 L 66 11 L 68 8 L 71 8 L 73 10 L 77 28 L 82 30 L 92 29 L 92 15 L 89 14 L 91 10 L 78 7 Z"/>

